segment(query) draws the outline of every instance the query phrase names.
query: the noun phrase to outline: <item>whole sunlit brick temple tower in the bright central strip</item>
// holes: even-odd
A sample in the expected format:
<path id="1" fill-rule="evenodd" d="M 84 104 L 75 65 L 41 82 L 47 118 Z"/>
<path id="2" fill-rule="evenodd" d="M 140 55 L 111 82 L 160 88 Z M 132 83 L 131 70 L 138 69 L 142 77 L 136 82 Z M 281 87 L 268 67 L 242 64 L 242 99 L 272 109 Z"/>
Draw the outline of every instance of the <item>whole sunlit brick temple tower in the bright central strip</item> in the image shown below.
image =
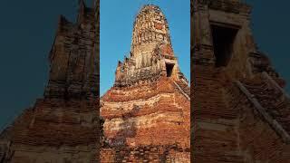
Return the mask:
<path id="1" fill-rule="evenodd" d="M 131 53 L 118 62 L 100 111 L 105 136 L 101 162 L 189 162 L 189 84 L 160 7 L 140 9 Z"/>

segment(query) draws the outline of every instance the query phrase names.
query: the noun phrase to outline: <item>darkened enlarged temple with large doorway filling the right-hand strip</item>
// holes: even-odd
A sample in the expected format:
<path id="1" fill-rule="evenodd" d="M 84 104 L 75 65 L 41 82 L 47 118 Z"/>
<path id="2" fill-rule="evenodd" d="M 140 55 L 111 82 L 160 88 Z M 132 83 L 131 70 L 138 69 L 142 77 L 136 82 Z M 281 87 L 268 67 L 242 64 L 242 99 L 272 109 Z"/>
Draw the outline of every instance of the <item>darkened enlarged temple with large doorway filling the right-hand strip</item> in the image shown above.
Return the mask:
<path id="1" fill-rule="evenodd" d="M 251 7 L 192 0 L 193 162 L 290 162 L 285 82 L 256 47 Z"/>

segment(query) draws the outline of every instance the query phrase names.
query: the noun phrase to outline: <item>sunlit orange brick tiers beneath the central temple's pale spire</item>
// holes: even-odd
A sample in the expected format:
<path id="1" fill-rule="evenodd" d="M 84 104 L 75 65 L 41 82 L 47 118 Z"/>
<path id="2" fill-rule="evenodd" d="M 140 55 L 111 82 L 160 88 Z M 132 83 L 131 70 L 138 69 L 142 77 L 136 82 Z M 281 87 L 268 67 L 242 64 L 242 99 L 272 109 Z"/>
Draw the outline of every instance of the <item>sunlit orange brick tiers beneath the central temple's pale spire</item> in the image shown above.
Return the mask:
<path id="1" fill-rule="evenodd" d="M 142 87 L 112 88 L 102 97 L 101 115 L 112 144 L 189 147 L 189 100 L 169 78 Z"/>

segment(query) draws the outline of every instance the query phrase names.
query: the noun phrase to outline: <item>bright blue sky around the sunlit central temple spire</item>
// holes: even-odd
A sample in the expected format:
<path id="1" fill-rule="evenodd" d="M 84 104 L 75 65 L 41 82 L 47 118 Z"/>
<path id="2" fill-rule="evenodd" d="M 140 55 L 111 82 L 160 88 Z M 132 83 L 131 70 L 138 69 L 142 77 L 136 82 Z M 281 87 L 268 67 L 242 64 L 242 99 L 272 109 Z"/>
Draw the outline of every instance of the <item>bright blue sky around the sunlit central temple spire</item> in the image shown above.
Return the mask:
<path id="1" fill-rule="evenodd" d="M 181 72 L 190 79 L 189 0 L 101 0 L 101 95 L 113 85 L 118 60 L 130 53 L 133 22 L 142 5 L 159 5 L 169 22 L 173 50 Z"/>

